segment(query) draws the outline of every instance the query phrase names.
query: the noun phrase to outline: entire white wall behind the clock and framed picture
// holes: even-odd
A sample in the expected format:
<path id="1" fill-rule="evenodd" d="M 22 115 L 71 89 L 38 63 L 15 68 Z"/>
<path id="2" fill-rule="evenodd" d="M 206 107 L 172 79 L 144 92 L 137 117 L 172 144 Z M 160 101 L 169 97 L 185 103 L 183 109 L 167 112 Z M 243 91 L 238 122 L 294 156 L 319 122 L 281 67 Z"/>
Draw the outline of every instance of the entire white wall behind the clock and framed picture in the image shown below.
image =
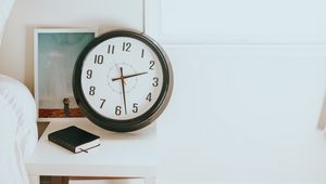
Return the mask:
<path id="1" fill-rule="evenodd" d="M 34 26 L 145 28 L 175 75 L 158 119 L 160 183 L 326 183 L 326 2 L 146 0 L 146 22 L 142 5 L 18 0 L 0 73 L 33 89 Z"/>

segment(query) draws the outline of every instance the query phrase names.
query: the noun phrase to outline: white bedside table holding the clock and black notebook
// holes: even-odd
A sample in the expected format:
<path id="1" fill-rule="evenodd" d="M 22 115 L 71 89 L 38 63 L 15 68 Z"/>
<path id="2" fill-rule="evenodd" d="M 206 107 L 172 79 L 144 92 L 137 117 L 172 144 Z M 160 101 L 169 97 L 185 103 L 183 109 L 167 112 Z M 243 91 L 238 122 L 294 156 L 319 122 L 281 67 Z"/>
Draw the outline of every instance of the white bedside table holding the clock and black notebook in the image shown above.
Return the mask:
<path id="1" fill-rule="evenodd" d="M 76 126 L 100 136 L 101 145 L 89 153 L 74 154 L 48 141 L 48 134 Z M 156 128 L 155 124 L 129 133 L 106 131 L 87 119 L 70 122 L 50 122 L 26 167 L 30 183 L 39 183 L 39 175 L 141 178 L 154 184 L 156 175 Z"/>

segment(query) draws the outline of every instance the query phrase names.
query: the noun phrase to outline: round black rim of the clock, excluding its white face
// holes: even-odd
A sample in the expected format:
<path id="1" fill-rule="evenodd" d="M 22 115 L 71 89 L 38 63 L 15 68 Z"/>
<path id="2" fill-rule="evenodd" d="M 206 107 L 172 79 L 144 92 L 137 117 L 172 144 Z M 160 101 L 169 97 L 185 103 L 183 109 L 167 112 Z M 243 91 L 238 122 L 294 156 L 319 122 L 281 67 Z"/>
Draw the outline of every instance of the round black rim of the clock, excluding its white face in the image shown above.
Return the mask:
<path id="1" fill-rule="evenodd" d="M 101 42 L 115 37 L 129 37 L 129 38 L 137 39 L 143 42 L 145 44 L 147 44 L 156 54 L 163 71 L 162 90 L 160 92 L 156 102 L 145 114 L 128 120 L 111 119 L 111 118 L 103 117 L 102 115 L 97 113 L 88 104 L 82 89 L 82 69 L 83 69 L 84 61 L 87 57 L 88 53 Z M 172 71 L 168 57 L 166 56 L 165 52 L 150 37 L 135 30 L 125 30 L 125 29 L 113 30 L 95 38 L 80 52 L 75 63 L 74 73 L 73 73 L 74 96 L 82 111 L 93 123 L 98 124 L 101 128 L 104 128 L 110 131 L 115 131 L 115 132 L 130 132 L 149 126 L 153 120 L 155 120 L 162 114 L 162 111 L 166 107 L 171 97 L 172 88 L 173 88 L 173 71 Z"/>

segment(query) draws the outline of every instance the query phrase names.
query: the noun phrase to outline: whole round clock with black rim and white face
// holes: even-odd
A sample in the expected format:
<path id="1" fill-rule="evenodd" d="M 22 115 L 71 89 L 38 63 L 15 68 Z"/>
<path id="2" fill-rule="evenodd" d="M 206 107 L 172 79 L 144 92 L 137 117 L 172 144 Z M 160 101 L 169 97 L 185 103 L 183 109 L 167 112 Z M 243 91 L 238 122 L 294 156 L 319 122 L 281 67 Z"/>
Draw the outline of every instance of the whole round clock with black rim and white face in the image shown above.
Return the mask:
<path id="1" fill-rule="evenodd" d="M 166 107 L 173 73 L 162 48 L 145 34 L 113 30 L 79 54 L 73 90 L 80 109 L 96 124 L 116 132 L 150 124 Z"/>

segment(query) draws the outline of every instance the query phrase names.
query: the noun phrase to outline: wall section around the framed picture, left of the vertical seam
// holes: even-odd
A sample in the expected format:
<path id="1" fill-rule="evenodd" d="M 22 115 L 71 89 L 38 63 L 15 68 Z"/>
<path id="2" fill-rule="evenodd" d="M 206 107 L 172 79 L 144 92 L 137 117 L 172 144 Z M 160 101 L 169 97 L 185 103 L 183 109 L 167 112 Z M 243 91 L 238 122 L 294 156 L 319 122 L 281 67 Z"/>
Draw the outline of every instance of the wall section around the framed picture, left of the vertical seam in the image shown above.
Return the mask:
<path id="1" fill-rule="evenodd" d="M 16 0 L 0 48 L 0 73 L 34 90 L 34 28 L 143 29 L 142 0 Z"/>

